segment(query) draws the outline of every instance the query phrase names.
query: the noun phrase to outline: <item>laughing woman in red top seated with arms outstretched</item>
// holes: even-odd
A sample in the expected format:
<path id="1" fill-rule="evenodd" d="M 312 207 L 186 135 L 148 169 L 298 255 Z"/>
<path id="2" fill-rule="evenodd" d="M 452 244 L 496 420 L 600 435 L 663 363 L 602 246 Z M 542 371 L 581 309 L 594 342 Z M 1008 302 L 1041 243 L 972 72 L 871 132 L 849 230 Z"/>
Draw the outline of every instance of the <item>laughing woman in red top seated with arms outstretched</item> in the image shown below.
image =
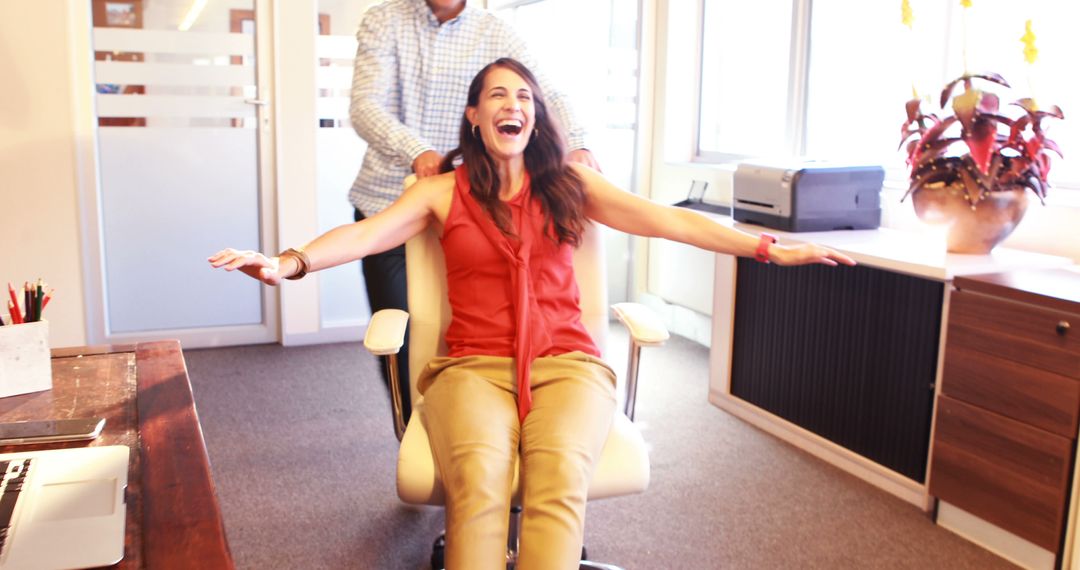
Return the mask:
<path id="1" fill-rule="evenodd" d="M 446 567 L 505 568 L 519 452 L 517 568 L 578 568 L 589 481 L 616 409 L 615 374 L 577 307 L 571 256 L 584 223 L 745 257 L 761 242 L 567 163 L 536 78 L 513 59 L 498 59 L 473 79 L 460 145 L 443 171 L 382 213 L 301 250 L 266 257 L 225 249 L 210 261 L 276 285 L 384 252 L 435 225 L 453 313 L 449 355 L 428 365 L 418 388 L 447 492 Z M 782 266 L 854 264 L 812 244 L 762 247 Z"/>

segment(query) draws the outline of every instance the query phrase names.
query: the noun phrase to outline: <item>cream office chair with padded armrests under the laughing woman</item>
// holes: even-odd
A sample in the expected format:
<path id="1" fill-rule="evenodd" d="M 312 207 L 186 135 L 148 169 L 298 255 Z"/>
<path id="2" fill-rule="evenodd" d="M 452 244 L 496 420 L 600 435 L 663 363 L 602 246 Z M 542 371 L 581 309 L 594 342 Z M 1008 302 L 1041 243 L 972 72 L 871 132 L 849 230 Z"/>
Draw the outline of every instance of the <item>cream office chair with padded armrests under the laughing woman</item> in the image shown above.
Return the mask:
<path id="1" fill-rule="evenodd" d="M 410 179 L 413 177 L 409 177 Z M 411 180 L 406 180 L 406 187 Z M 394 432 L 401 442 L 397 454 L 397 496 L 411 504 L 444 504 L 443 483 L 436 471 L 431 446 L 419 413 L 413 413 L 408 425 L 402 417 L 400 384 L 397 382 L 397 351 L 403 344 L 405 326 L 411 322 L 409 332 L 409 390 L 413 402 L 418 403 L 416 380 L 427 363 L 446 353 L 443 334 L 450 321 L 446 291 L 446 262 L 438 235 L 429 228 L 405 245 L 408 281 L 409 312 L 396 309 L 378 311 L 372 316 L 364 345 L 375 355 L 384 355 L 391 371 L 390 388 L 393 401 Z M 607 284 L 604 273 L 604 242 L 599 228 L 589 225 L 582 244 L 575 253 L 573 270 L 581 291 L 581 320 L 603 350 L 608 331 Z M 637 370 L 642 347 L 663 344 L 667 329 L 646 307 L 636 303 L 617 303 L 611 311 L 630 332 L 630 354 L 626 378 L 620 382 L 623 391 L 623 409 L 617 410 L 600 459 L 589 487 L 589 500 L 638 493 L 649 485 L 649 458 L 642 434 L 633 423 L 637 396 Z M 414 406 L 414 410 L 418 409 Z M 518 519 L 521 516 L 518 474 L 514 474 L 514 506 L 510 513 L 510 534 L 507 545 L 508 568 L 517 558 Z M 435 540 L 431 565 L 443 569 L 443 537 Z M 589 561 L 582 548 L 580 568 L 619 570 L 619 567 Z"/>

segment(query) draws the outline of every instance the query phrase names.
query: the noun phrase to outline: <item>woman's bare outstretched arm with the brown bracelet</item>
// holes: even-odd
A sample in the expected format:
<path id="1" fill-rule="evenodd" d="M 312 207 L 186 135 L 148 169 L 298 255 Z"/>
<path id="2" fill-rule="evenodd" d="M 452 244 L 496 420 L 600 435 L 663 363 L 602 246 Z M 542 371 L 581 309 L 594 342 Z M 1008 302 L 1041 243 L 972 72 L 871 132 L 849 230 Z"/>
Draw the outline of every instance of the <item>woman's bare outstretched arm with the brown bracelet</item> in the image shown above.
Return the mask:
<path id="1" fill-rule="evenodd" d="M 340 266 L 397 247 L 432 221 L 446 219 L 453 189 L 453 173 L 423 178 L 387 209 L 315 238 L 302 248 L 309 262 L 307 271 Z M 301 269 L 295 256 L 268 257 L 258 252 L 232 248 L 221 249 L 207 260 L 215 268 L 240 270 L 267 285 L 278 285 Z"/>

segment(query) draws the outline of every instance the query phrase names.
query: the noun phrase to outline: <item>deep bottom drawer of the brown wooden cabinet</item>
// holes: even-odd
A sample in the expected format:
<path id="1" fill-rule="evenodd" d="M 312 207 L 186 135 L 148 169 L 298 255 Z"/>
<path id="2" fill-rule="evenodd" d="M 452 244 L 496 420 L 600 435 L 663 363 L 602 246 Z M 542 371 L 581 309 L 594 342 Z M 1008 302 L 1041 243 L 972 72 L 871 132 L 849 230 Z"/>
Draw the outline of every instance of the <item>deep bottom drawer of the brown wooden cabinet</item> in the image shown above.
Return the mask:
<path id="1" fill-rule="evenodd" d="M 930 494 L 1056 553 L 1071 442 L 948 396 L 935 425 Z"/>

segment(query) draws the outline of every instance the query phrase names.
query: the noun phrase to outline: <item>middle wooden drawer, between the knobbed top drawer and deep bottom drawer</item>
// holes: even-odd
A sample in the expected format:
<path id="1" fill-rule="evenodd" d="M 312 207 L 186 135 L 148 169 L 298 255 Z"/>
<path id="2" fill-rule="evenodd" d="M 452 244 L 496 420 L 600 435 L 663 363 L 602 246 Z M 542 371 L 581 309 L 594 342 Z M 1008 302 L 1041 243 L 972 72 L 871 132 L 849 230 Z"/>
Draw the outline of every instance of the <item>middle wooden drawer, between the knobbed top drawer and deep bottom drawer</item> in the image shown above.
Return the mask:
<path id="1" fill-rule="evenodd" d="M 1071 378 L 949 342 L 942 393 L 1063 437 L 1076 437 L 1080 382 Z"/>

